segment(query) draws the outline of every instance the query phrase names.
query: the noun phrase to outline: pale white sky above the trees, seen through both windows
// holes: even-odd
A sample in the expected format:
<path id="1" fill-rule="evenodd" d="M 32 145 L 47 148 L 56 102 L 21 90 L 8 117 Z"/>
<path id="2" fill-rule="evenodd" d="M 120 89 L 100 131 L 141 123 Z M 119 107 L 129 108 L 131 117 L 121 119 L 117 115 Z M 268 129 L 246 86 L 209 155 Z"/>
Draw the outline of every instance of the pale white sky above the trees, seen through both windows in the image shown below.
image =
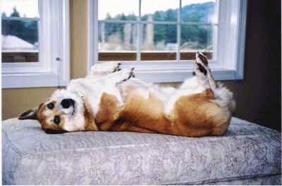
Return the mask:
<path id="1" fill-rule="evenodd" d="M 59 0 L 58 0 L 59 1 Z M 76 0 L 79 1 L 79 0 Z M 99 19 L 106 18 L 106 14 L 110 13 L 111 16 L 116 16 L 118 13 L 134 13 L 138 15 L 138 2 L 139 0 L 94 0 L 98 1 L 98 17 Z M 188 4 L 204 3 L 215 0 L 183 0 L 182 6 Z M 1 0 L 1 12 L 5 11 L 6 16 L 10 16 L 13 12 L 13 7 L 17 8 L 20 16 L 30 18 L 38 17 L 38 3 L 37 0 Z M 178 0 L 142 0 L 141 14 L 154 13 L 155 11 L 166 11 L 168 8 L 178 8 Z"/>

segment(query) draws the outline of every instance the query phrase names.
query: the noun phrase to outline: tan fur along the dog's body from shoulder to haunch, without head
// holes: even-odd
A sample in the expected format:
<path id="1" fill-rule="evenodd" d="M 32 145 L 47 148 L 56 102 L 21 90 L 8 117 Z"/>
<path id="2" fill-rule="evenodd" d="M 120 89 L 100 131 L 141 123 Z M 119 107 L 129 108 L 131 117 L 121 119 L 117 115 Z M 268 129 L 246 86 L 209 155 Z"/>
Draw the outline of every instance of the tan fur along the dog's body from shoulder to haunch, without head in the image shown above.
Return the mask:
<path id="1" fill-rule="evenodd" d="M 99 130 L 179 136 L 221 135 L 231 120 L 231 112 L 210 101 L 214 98 L 210 89 L 182 96 L 170 115 L 163 112 L 161 101 L 154 95 L 145 99 L 134 90 L 129 92 L 122 108 L 117 106 L 118 102 L 113 95 L 102 96 L 95 120 Z"/>

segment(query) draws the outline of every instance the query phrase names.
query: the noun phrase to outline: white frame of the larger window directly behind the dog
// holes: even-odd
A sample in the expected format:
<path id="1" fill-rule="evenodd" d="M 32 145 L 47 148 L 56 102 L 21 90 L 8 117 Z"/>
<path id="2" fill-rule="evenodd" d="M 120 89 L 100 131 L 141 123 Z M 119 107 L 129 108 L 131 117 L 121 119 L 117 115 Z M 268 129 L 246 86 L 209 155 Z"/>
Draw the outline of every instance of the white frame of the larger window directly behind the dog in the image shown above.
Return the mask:
<path id="1" fill-rule="evenodd" d="M 219 29 L 217 30 L 214 59 L 210 60 L 209 66 L 216 80 L 243 79 L 247 1 L 218 0 L 217 2 L 219 3 Z M 98 62 L 97 23 L 98 1 L 88 0 L 89 70 Z M 193 71 L 191 60 L 140 62 L 137 56 L 137 62 L 122 62 L 122 64 L 123 66 L 135 66 L 137 78 L 154 83 L 180 82 L 192 76 Z"/>

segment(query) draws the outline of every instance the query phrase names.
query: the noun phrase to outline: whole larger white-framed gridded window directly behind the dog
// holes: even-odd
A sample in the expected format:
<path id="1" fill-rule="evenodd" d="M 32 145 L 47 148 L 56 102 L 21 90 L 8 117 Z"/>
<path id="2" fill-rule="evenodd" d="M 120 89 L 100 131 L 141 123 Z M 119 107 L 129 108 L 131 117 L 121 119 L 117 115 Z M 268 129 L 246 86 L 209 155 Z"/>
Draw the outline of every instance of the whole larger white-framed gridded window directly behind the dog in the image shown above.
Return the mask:
<path id="1" fill-rule="evenodd" d="M 177 82 L 202 51 L 215 79 L 243 79 L 246 1 L 89 0 L 89 8 L 89 66 L 117 60 L 145 81 Z"/>

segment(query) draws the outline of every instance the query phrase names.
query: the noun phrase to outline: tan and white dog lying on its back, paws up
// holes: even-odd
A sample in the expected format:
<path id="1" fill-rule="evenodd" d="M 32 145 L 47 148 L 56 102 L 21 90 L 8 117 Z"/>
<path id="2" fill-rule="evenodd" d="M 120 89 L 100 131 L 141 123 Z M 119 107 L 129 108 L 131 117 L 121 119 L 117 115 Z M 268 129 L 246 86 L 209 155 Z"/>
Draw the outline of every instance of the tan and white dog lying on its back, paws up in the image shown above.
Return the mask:
<path id="1" fill-rule="evenodd" d="M 208 136 L 223 134 L 235 109 L 233 94 L 217 86 L 207 57 L 197 52 L 195 76 L 179 88 L 133 78 L 118 63 L 92 66 L 91 74 L 55 91 L 45 103 L 20 115 L 38 120 L 47 133 L 127 131 Z"/>

